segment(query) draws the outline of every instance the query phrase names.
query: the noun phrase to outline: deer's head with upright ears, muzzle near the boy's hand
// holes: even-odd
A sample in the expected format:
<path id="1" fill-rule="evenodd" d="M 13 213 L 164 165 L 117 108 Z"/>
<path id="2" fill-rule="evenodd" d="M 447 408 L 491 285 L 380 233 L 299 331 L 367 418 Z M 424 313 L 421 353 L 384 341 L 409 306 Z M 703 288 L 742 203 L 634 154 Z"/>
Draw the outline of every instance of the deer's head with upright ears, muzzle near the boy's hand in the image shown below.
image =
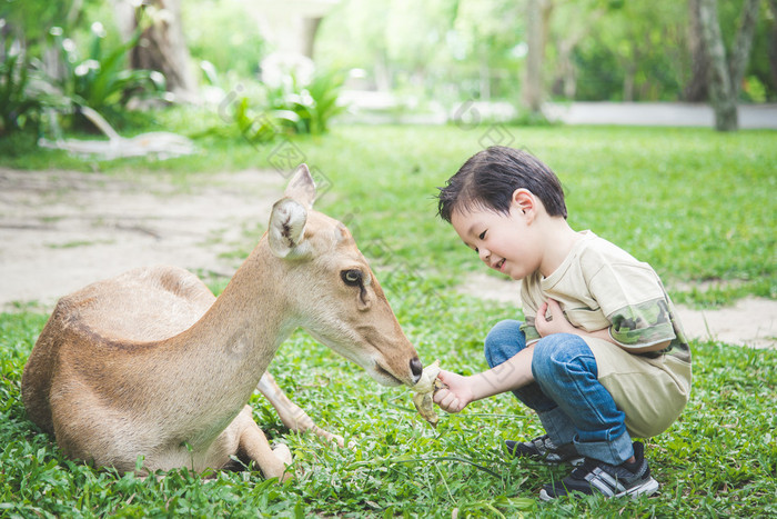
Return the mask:
<path id="1" fill-rule="evenodd" d="M 299 325 L 384 386 L 414 385 L 423 366 L 381 285 L 337 220 L 312 209 L 315 184 L 302 164 L 273 206 L 268 242 L 284 266 Z"/>

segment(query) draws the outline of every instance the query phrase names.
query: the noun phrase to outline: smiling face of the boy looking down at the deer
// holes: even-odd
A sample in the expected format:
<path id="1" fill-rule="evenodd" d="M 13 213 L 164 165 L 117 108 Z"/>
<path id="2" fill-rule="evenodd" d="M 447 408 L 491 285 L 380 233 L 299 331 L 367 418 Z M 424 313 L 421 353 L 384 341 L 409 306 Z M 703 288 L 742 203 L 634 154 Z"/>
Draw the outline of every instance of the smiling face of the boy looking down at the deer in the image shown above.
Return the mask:
<path id="1" fill-rule="evenodd" d="M 490 268 L 513 279 L 524 279 L 539 269 L 542 237 L 535 236 L 532 211 L 514 201 L 509 213 L 488 209 L 455 210 L 451 223 L 464 243 Z"/>

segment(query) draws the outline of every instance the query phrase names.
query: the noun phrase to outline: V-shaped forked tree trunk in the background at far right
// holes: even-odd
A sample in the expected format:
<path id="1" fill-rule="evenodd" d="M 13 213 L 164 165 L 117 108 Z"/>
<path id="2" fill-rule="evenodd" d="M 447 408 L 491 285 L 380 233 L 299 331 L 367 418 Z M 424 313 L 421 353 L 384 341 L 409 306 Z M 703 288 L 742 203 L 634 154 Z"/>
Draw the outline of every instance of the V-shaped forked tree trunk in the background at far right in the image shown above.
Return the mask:
<path id="1" fill-rule="evenodd" d="M 749 61 L 759 1 L 746 0 L 745 2 L 730 61 L 726 60 L 717 0 L 699 2 L 702 34 L 709 58 L 709 101 L 715 110 L 715 129 L 718 131 L 734 131 L 739 128 L 737 99 L 741 78 Z"/>

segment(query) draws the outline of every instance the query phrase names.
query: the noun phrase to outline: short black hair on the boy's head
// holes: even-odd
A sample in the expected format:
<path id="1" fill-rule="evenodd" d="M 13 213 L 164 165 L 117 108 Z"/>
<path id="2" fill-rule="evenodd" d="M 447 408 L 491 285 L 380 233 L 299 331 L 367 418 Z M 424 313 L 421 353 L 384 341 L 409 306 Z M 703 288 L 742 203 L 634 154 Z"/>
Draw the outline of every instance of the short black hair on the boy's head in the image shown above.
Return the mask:
<path id="1" fill-rule="evenodd" d="M 492 146 L 472 156 L 437 196 L 437 214 L 448 223 L 454 209 L 474 208 L 508 213 L 516 189 L 527 189 L 552 217 L 566 219 L 564 189 L 539 159 L 522 150 Z"/>

